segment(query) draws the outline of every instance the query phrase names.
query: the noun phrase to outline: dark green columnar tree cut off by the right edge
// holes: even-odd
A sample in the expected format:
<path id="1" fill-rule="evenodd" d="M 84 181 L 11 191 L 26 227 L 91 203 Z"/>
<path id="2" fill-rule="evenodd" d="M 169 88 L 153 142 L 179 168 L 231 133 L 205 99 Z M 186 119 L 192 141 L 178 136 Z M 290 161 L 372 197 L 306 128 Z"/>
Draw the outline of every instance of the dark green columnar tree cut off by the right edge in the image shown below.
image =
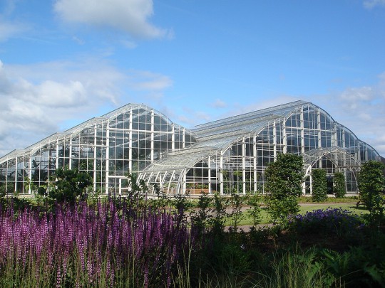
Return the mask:
<path id="1" fill-rule="evenodd" d="M 359 195 L 369 210 L 373 223 L 384 220 L 385 165 L 378 161 L 367 161 L 361 166 L 358 176 Z"/>

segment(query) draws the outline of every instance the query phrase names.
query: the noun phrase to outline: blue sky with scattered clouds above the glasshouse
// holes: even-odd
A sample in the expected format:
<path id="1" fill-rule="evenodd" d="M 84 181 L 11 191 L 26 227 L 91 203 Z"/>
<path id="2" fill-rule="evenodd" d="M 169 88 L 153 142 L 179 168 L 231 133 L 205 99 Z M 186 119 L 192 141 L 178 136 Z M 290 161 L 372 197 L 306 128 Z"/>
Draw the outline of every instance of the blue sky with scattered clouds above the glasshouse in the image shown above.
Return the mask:
<path id="1" fill-rule="evenodd" d="M 385 156 L 385 0 L 1 0 L 0 155 L 130 102 L 192 128 L 294 100 Z"/>

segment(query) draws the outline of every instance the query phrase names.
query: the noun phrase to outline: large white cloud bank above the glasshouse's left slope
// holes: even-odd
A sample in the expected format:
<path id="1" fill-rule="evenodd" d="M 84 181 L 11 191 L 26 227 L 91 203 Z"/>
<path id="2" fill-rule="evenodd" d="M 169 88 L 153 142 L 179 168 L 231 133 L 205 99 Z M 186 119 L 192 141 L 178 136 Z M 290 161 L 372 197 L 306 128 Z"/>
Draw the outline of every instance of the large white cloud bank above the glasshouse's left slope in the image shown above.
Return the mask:
<path id="1" fill-rule="evenodd" d="M 34 65 L 0 61 L 0 156 L 110 108 L 140 102 L 138 94 L 158 99 L 171 84 L 164 75 L 123 72 L 103 60 Z"/>

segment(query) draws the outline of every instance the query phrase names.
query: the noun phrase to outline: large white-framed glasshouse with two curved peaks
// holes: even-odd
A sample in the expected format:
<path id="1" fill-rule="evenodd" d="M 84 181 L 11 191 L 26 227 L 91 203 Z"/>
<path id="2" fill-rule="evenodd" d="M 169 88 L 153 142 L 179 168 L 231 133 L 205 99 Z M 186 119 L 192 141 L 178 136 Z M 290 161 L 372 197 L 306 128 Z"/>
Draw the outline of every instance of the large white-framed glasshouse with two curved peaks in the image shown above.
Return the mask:
<path id="1" fill-rule="evenodd" d="M 0 158 L 0 189 L 34 193 L 55 186 L 56 169 L 91 175 L 93 193 L 128 193 L 128 173 L 148 193 L 265 193 L 264 169 L 277 154 L 299 154 L 312 169 L 342 172 L 357 189 L 361 163 L 381 156 L 312 102 L 296 101 L 186 129 L 148 106 L 128 104 Z"/>

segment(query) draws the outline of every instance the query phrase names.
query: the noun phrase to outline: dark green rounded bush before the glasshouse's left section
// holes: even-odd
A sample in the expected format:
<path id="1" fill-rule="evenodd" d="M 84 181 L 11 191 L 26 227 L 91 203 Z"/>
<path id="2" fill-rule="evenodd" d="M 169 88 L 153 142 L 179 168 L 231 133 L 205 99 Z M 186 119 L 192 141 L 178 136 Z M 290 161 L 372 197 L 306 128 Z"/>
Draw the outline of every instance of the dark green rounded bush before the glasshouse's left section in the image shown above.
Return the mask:
<path id="1" fill-rule="evenodd" d="M 92 184 L 92 178 L 78 169 L 56 169 L 51 177 L 53 188 L 39 187 L 38 194 L 58 203 L 76 202 L 77 198 L 86 198 L 86 188 Z"/>

